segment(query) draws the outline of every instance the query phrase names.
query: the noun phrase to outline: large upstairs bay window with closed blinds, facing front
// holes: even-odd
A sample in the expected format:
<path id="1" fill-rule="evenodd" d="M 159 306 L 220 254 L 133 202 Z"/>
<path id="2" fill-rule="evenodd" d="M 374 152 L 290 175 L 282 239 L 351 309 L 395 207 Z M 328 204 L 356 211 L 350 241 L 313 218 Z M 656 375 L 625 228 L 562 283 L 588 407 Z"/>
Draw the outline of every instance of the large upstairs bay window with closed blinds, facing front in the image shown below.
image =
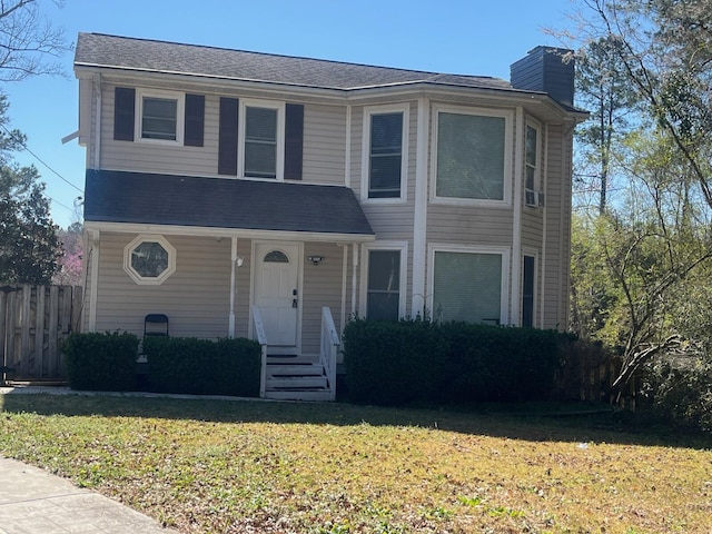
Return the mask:
<path id="1" fill-rule="evenodd" d="M 507 204 L 512 121 L 511 112 L 437 108 L 434 199 Z"/>

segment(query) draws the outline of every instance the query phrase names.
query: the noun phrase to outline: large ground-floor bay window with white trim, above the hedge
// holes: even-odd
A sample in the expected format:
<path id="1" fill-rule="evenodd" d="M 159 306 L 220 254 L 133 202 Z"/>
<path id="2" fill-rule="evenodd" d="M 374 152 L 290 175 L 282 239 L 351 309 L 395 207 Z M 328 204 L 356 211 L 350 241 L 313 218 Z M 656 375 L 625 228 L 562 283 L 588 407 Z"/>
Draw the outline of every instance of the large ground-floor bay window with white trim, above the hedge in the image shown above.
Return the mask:
<path id="1" fill-rule="evenodd" d="M 433 250 L 433 309 L 436 320 L 500 325 L 506 320 L 505 250 Z"/>

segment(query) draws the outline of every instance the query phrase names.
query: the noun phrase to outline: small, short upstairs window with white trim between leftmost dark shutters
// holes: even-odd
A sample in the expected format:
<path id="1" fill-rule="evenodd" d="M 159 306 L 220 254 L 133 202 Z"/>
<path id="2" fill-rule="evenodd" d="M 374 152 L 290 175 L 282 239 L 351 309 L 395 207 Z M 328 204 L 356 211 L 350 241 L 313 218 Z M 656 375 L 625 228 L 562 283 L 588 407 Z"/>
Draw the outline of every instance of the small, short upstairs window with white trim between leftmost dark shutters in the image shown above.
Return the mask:
<path id="1" fill-rule="evenodd" d="M 139 90 L 136 138 L 182 144 L 184 110 L 182 93 Z"/>

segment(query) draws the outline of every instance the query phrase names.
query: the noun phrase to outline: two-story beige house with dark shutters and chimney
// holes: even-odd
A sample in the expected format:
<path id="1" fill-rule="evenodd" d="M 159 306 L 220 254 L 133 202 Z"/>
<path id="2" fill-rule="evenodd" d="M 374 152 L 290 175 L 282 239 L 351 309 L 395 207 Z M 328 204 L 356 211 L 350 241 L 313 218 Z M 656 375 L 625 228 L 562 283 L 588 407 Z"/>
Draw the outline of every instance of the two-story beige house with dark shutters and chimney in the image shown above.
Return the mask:
<path id="1" fill-rule="evenodd" d="M 573 63 L 512 81 L 80 33 L 86 330 L 315 356 L 323 308 L 563 328 Z"/>

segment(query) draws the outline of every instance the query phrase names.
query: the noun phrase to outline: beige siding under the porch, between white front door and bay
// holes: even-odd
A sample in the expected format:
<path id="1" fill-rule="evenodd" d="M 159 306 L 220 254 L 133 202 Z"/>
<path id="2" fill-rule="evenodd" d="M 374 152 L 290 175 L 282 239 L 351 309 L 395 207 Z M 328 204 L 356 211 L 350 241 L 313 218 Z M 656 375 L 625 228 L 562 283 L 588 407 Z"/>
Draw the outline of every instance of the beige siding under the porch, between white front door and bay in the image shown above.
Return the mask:
<path id="1" fill-rule="evenodd" d="M 312 265 L 309 256 L 323 256 L 324 261 Z M 340 332 L 344 248 L 326 243 L 307 243 L 304 247 L 304 286 L 301 290 L 301 353 L 319 354 L 322 307 L 332 309 L 334 324 Z M 352 247 L 348 247 L 346 271 L 346 315 L 352 309 Z"/>

